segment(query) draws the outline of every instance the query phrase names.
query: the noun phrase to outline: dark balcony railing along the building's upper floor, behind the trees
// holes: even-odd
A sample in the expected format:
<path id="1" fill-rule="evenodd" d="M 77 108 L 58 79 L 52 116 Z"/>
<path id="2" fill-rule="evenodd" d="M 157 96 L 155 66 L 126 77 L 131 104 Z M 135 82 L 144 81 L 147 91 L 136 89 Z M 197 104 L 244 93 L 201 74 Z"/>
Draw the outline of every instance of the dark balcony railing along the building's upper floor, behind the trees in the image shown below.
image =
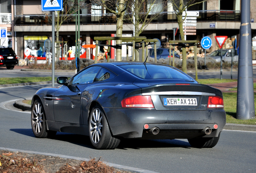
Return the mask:
<path id="1" fill-rule="evenodd" d="M 129 15 L 129 14 L 128 14 Z M 14 17 L 14 25 L 51 25 L 51 15 L 22 15 Z M 75 15 L 68 15 L 63 24 L 75 24 Z M 199 11 L 197 22 L 233 21 L 240 22 L 240 11 L 233 10 L 204 10 Z M 178 22 L 175 12 L 162 12 L 151 23 Z M 124 20 L 124 23 L 128 23 Z M 80 24 L 116 24 L 114 14 L 80 14 Z"/>

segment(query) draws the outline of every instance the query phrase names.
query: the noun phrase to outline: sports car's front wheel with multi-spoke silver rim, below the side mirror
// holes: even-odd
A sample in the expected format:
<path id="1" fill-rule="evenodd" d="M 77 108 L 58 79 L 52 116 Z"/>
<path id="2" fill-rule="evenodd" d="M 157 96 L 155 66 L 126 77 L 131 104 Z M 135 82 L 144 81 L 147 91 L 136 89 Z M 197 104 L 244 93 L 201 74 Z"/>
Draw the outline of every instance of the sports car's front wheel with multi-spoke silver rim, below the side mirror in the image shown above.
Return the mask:
<path id="1" fill-rule="evenodd" d="M 45 112 L 40 99 L 36 99 L 31 109 L 31 127 L 35 137 L 53 137 L 56 131 L 47 131 L 45 123 Z"/>

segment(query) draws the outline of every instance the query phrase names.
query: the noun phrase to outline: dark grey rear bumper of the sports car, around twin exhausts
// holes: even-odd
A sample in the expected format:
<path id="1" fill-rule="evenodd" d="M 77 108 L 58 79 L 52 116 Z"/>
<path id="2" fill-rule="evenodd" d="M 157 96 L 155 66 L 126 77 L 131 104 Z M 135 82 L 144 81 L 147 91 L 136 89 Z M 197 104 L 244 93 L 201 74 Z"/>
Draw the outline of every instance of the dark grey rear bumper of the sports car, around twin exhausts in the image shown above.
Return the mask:
<path id="1" fill-rule="evenodd" d="M 142 139 L 191 139 L 194 137 L 218 137 L 226 124 L 224 109 L 206 111 L 157 111 L 155 109 L 104 108 L 112 135 Z M 148 129 L 144 125 L 149 125 Z M 214 129 L 213 125 L 218 128 Z M 159 128 L 159 134 L 148 133 Z M 210 127 L 210 135 L 201 133 Z"/>

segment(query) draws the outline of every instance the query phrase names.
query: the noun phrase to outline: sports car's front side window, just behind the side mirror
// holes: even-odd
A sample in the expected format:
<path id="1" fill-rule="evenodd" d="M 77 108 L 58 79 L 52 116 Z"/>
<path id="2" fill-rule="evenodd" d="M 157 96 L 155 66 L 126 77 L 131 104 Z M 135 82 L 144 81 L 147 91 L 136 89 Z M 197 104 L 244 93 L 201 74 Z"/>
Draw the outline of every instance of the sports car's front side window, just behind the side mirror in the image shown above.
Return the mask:
<path id="1" fill-rule="evenodd" d="M 78 73 L 74 78 L 70 81 L 70 84 L 88 84 L 92 83 L 96 74 L 99 72 L 99 66 L 93 66 L 83 70 L 82 72 Z"/>

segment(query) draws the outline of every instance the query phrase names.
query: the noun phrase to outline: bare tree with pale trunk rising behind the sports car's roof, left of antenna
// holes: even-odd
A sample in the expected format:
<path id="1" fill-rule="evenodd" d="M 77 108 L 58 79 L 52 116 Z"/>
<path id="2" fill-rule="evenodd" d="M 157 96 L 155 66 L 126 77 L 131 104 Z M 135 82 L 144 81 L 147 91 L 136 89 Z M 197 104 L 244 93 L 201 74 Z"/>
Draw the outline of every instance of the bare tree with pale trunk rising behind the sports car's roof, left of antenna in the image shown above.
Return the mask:
<path id="1" fill-rule="evenodd" d="M 91 0 L 91 3 L 102 6 L 109 13 L 116 15 L 116 36 L 121 37 L 123 33 L 124 14 L 129 1 L 130 0 Z M 116 40 L 116 44 L 122 44 L 122 40 Z M 122 61 L 121 49 L 116 49 L 116 60 Z"/>

